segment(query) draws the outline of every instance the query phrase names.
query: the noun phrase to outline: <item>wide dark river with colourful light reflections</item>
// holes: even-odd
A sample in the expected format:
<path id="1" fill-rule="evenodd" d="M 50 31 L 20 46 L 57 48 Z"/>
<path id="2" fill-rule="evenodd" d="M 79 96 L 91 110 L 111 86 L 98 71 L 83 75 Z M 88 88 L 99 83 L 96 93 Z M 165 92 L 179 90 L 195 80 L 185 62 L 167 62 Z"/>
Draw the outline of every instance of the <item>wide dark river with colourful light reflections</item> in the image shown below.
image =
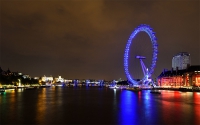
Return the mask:
<path id="1" fill-rule="evenodd" d="M 6 90 L 0 124 L 200 125 L 200 93 L 99 87 Z"/>

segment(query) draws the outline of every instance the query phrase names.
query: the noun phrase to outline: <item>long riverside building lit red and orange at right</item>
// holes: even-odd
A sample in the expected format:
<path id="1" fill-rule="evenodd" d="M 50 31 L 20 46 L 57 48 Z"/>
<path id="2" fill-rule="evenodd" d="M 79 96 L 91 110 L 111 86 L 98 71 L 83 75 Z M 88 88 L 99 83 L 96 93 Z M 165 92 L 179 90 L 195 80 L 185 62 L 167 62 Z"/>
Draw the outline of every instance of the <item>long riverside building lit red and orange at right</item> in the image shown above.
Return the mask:
<path id="1" fill-rule="evenodd" d="M 162 87 L 200 86 L 200 65 L 184 70 L 164 70 L 157 81 Z"/>

